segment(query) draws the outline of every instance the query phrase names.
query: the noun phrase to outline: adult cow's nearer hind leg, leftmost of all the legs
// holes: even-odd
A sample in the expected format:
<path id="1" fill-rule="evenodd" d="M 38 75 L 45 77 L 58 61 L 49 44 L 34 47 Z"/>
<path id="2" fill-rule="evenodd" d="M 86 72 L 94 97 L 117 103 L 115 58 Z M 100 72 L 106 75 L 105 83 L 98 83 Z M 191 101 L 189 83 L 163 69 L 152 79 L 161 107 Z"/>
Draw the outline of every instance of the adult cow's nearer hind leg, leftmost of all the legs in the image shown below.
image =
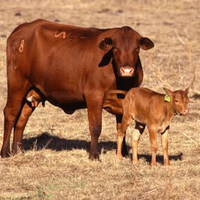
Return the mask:
<path id="1" fill-rule="evenodd" d="M 30 85 L 13 83 L 13 87 L 8 89 L 8 99 L 4 108 L 4 136 L 1 149 L 1 156 L 10 156 L 10 135 L 22 109 L 23 98 L 25 97 Z"/>

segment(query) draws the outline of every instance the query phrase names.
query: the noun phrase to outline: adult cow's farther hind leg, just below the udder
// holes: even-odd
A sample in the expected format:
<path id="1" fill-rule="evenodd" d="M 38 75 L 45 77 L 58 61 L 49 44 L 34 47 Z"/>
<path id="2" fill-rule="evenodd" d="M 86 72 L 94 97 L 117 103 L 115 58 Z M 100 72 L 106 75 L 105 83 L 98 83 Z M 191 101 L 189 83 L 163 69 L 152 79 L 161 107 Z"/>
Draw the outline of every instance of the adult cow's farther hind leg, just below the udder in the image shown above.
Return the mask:
<path id="1" fill-rule="evenodd" d="M 14 127 L 14 137 L 13 137 L 13 145 L 12 145 L 13 154 L 17 153 L 18 150 L 22 149 L 23 131 L 34 109 L 35 107 L 32 107 L 30 102 L 29 103 L 26 102 L 22 108 L 19 119 L 17 120 Z"/>

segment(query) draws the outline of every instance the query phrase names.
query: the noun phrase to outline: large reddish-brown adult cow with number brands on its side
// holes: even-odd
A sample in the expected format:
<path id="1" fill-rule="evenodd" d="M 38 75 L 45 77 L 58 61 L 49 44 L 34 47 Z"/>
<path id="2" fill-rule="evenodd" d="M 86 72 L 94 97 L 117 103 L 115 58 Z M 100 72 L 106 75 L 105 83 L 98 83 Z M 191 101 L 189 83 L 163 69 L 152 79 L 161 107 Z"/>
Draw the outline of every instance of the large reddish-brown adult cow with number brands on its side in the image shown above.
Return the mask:
<path id="1" fill-rule="evenodd" d="M 140 47 L 153 46 L 130 27 L 80 28 L 45 20 L 17 27 L 7 41 L 8 97 L 1 156 L 10 155 L 12 128 L 12 152 L 21 148 L 29 116 L 40 101 L 48 100 L 69 114 L 87 107 L 90 158 L 99 158 L 104 93 L 139 86 Z"/>

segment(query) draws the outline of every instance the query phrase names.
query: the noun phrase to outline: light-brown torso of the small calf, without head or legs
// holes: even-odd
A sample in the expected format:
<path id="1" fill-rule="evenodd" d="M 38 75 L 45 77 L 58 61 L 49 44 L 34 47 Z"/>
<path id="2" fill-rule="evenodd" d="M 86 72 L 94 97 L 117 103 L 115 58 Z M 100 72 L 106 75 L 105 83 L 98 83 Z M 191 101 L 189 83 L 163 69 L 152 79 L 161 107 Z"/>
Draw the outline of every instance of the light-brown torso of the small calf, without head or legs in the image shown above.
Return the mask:
<path id="1" fill-rule="evenodd" d="M 171 111 L 170 102 L 166 102 L 164 96 L 147 88 L 131 89 L 122 103 L 123 112 L 145 125 L 158 123 Z"/>

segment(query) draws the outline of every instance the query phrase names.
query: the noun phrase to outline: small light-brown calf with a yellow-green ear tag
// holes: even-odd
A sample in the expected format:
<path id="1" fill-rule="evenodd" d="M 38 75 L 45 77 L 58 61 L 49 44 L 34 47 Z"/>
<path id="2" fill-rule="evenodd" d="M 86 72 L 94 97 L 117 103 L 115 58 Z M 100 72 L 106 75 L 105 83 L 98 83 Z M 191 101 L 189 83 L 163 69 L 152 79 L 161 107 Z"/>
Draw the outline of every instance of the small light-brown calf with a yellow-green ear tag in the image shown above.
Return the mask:
<path id="1" fill-rule="evenodd" d="M 165 88 L 164 88 L 165 89 Z M 169 165 L 168 158 L 168 131 L 169 125 L 175 115 L 186 115 L 188 113 L 187 104 L 188 88 L 186 90 L 176 90 L 174 92 L 165 89 L 167 95 L 160 94 L 147 88 L 132 88 L 128 91 L 121 102 L 123 118 L 121 127 L 117 134 L 117 157 L 121 159 L 122 141 L 125 131 L 132 119 L 135 120 L 135 131 L 132 134 L 133 163 L 138 164 L 137 150 L 138 142 L 145 126 L 149 130 L 152 159 L 151 165 L 156 165 L 156 152 L 158 149 L 157 133 L 162 136 L 162 148 L 164 152 L 164 165 Z M 111 93 L 115 93 L 111 91 Z M 121 92 L 120 92 L 121 93 Z M 109 97 L 108 97 L 109 98 Z M 112 97 L 111 99 L 114 98 Z M 111 101 L 110 107 L 115 107 Z M 119 103 L 120 104 L 120 103 Z M 117 105 L 118 106 L 118 105 Z M 120 106 L 116 107 L 119 110 Z"/>

